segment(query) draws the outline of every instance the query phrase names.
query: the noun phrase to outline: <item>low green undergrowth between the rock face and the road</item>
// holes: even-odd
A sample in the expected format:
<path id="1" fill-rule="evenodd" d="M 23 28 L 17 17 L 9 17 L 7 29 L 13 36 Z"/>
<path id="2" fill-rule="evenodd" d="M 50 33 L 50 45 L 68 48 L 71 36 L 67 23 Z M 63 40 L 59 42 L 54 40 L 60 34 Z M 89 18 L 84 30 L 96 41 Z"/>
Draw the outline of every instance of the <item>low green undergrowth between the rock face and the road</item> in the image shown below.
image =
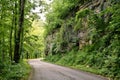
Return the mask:
<path id="1" fill-rule="evenodd" d="M 112 70 L 117 68 L 114 67 L 115 65 L 106 64 L 106 61 L 108 61 L 108 63 L 110 63 L 110 61 L 107 58 L 103 58 L 103 56 L 102 53 L 96 54 L 71 50 L 62 55 L 49 55 L 45 58 L 45 61 L 106 76 L 111 78 L 110 80 L 119 80 L 119 70 L 117 71 L 118 73 Z M 111 66 L 111 68 L 106 67 L 108 65 Z"/>

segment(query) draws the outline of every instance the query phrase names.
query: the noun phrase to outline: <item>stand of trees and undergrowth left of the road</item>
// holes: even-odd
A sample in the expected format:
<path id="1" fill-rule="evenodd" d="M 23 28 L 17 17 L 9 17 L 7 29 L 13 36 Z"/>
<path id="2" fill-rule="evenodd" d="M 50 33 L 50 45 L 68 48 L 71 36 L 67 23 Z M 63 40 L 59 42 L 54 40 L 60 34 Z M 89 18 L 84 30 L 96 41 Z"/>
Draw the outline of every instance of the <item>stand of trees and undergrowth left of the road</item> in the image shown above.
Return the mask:
<path id="1" fill-rule="evenodd" d="M 0 0 L 0 80 L 27 80 L 31 68 L 25 59 L 41 56 L 43 22 L 33 10 L 42 4 Z"/>

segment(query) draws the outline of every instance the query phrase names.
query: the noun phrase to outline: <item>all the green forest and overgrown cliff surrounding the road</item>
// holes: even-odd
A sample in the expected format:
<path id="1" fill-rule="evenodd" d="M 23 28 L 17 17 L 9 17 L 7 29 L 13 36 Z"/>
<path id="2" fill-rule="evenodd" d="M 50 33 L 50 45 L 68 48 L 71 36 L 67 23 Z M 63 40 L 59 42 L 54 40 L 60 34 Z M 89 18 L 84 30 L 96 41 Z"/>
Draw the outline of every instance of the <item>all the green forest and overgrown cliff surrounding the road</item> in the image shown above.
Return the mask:
<path id="1" fill-rule="evenodd" d="M 32 58 L 119 80 L 120 1 L 0 0 L 0 80 L 27 80 Z"/>

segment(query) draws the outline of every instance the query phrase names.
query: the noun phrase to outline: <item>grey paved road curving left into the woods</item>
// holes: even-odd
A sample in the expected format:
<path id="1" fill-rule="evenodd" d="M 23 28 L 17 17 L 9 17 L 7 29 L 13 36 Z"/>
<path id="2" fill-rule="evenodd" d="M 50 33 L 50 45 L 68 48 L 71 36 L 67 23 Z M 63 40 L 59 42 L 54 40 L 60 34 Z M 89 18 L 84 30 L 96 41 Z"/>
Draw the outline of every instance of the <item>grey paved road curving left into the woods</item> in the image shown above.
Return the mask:
<path id="1" fill-rule="evenodd" d="M 29 80 L 108 80 L 98 75 L 31 59 L 33 71 Z"/>

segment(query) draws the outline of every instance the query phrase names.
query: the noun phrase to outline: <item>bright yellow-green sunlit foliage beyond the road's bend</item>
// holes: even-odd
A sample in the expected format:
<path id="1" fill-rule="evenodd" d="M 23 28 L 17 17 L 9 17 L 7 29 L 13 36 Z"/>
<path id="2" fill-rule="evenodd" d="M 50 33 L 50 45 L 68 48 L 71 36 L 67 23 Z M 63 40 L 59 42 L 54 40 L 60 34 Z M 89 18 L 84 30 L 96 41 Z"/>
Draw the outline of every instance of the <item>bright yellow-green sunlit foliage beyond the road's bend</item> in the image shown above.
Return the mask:
<path id="1" fill-rule="evenodd" d="M 25 33 L 22 58 L 41 57 L 44 49 L 44 24 L 41 20 L 34 20 L 32 27 L 27 28 Z"/>

